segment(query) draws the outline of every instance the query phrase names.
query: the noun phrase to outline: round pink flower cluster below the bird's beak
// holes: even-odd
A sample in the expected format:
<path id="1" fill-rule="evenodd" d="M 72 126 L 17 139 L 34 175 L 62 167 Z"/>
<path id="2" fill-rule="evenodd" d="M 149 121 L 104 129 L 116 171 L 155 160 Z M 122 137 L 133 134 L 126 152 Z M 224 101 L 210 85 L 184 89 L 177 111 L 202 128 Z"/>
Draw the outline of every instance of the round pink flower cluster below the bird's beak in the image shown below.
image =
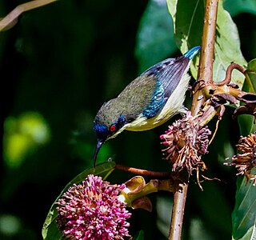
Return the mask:
<path id="1" fill-rule="evenodd" d="M 129 236 L 130 213 L 118 200 L 125 185 L 110 185 L 101 177 L 89 175 L 73 185 L 57 202 L 59 229 L 70 239 L 123 239 Z"/>

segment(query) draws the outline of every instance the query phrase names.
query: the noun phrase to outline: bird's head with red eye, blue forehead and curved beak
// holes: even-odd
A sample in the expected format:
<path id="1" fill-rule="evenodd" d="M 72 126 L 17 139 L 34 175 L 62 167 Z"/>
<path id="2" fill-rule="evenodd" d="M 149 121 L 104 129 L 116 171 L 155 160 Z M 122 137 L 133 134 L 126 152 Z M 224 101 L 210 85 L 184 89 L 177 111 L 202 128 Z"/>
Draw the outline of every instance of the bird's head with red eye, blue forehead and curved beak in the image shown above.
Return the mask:
<path id="1" fill-rule="evenodd" d="M 117 98 L 110 100 L 102 105 L 98 114 L 94 118 L 94 131 L 98 138 L 98 143 L 94 152 L 94 166 L 98 151 L 102 144 L 110 138 L 114 138 L 117 134 L 124 130 L 126 118 L 123 110 L 118 108 Z"/>

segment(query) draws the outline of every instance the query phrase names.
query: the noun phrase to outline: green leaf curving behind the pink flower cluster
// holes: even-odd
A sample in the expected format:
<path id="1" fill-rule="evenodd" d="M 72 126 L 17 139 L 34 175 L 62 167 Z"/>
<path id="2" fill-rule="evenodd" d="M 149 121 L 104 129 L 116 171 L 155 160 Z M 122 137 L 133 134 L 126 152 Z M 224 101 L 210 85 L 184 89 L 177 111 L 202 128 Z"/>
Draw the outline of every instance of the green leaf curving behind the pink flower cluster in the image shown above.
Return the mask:
<path id="1" fill-rule="evenodd" d="M 50 207 L 50 211 L 47 214 L 46 221 L 43 224 L 42 227 L 42 238 L 45 240 L 52 240 L 52 239 L 62 239 L 63 234 L 58 230 L 58 226 L 55 222 L 55 219 L 58 215 L 58 212 L 56 210 L 55 203 L 58 201 L 59 198 L 62 197 L 62 194 L 66 192 L 72 186 L 74 183 L 78 184 L 79 182 L 82 182 L 85 180 L 85 178 L 89 174 L 94 174 L 101 176 L 103 179 L 106 179 L 111 172 L 114 170 L 115 162 L 104 162 L 102 164 L 99 164 L 95 167 L 95 172 L 92 168 L 84 170 L 81 174 L 78 174 L 71 182 L 69 182 L 65 188 L 62 190 L 62 193 L 58 195 L 58 198 L 54 201 L 52 206 Z"/>

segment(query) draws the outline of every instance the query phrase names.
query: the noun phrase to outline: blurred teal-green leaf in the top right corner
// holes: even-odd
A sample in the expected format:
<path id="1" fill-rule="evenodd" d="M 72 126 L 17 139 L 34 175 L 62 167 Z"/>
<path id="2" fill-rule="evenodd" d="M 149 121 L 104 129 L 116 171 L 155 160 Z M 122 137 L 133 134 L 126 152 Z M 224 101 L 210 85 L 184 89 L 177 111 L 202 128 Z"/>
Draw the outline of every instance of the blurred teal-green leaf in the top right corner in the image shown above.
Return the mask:
<path id="1" fill-rule="evenodd" d="M 224 1 L 224 8 L 235 16 L 242 13 L 256 14 L 256 1 L 255 0 L 226 0 Z"/>

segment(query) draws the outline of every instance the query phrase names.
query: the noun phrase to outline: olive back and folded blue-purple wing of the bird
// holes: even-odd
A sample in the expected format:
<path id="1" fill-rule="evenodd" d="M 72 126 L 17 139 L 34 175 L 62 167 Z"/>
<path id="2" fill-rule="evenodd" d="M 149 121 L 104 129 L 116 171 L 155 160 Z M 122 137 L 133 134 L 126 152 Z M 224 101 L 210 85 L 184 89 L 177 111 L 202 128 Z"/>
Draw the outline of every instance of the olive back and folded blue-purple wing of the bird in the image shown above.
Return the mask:
<path id="1" fill-rule="evenodd" d="M 126 121 L 132 122 L 140 114 L 146 118 L 158 115 L 187 71 L 189 62 L 190 58 L 184 56 L 168 58 L 130 82 L 114 101 L 119 110 L 122 108 Z"/>

